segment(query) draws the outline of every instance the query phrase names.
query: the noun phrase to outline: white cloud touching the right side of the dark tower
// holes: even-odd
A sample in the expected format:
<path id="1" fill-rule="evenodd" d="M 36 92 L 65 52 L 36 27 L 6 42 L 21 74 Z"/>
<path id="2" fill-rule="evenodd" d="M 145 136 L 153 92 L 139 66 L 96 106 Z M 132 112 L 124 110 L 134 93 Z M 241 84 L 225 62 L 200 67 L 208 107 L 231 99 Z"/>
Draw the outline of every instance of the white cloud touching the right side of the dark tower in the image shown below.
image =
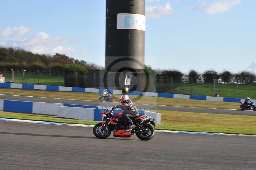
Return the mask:
<path id="1" fill-rule="evenodd" d="M 146 16 L 151 18 L 159 18 L 164 15 L 172 14 L 171 3 L 165 5 L 146 6 Z"/>

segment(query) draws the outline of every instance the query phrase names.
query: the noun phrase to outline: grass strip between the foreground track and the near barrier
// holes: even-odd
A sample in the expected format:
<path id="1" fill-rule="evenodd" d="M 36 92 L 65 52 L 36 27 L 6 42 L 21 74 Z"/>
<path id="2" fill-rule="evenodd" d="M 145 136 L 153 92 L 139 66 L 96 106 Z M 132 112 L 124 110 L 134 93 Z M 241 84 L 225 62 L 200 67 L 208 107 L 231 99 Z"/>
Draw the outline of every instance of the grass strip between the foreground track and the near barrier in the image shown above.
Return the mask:
<path id="1" fill-rule="evenodd" d="M 162 124 L 157 125 L 156 129 L 256 135 L 256 116 L 185 113 L 160 110 L 158 112 L 161 113 Z M 54 115 L 3 111 L 0 111 L 0 117 L 87 125 L 95 125 L 97 123 L 97 121 L 58 118 Z"/>

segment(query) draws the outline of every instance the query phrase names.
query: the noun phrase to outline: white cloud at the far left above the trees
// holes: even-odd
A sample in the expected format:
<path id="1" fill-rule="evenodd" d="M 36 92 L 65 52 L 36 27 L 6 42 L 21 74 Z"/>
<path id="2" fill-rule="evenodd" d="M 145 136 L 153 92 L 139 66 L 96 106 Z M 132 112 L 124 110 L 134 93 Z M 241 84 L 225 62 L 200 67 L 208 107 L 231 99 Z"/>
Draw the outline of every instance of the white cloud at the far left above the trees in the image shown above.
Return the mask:
<path id="1" fill-rule="evenodd" d="M 3 37 L 19 37 L 26 33 L 31 33 L 32 30 L 29 27 L 21 26 L 21 27 L 8 27 L 0 32 L 0 38 Z"/>

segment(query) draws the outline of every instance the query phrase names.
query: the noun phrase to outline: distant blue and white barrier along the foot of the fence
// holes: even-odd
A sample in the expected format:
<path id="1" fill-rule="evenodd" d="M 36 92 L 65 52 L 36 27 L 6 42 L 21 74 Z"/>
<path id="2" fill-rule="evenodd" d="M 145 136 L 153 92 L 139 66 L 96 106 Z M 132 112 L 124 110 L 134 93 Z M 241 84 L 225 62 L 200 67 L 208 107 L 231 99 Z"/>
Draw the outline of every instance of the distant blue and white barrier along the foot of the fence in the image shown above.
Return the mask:
<path id="1" fill-rule="evenodd" d="M 37 90 L 51 90 L 51 91 L 67 91 L 67 92 L 91 92 L 91 93 L 102 93 L 104 89 L 93 89 L 93 88 L 81 88 L 81 87 L 63 87 L 53 85 L 29 85 L 29 84 L 17 84 L 17 83 L 0 83 L 2 88 L 18 88 L 18 89 L 37 89 Z M 110 94 L 122 94 L 120 90 L 108 89 Z M 225 97 L 212 97 L 212 96 L 198 96 L 198 95 L 187 95 L 187 94 L 171 94 L 171 93 L 154 93 L 154 92 L 137 92 L 129 91 L 129 95 L 144 95 L 144 96 L 155 96 L 165 98 L 176 98 L 176 99 L 191 99 L 191 100 L 209 100 L 209 101 L 226 101 L 226 102 L 240 102 L 244 99 L 237 98 L 225 98 Z"/>

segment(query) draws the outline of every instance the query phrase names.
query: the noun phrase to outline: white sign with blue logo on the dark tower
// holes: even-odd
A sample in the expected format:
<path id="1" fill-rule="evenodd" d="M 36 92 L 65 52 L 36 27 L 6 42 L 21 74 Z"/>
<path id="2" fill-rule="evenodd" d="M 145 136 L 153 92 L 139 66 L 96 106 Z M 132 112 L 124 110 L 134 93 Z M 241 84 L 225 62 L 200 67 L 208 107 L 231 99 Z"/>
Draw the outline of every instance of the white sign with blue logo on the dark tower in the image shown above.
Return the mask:
<path id="1" fill-rule="evenodd" d="M 146 30 L 146 16 L 140 14 L 117 14 L 116 29 Z"/>

